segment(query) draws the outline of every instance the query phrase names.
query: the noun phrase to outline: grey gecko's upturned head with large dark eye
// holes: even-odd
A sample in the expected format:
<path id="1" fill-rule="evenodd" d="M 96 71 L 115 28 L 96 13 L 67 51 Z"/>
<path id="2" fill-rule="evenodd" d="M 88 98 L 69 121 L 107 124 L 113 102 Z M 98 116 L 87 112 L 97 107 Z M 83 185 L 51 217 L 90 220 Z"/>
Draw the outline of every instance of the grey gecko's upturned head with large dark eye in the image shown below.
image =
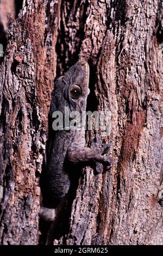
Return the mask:
<path id="1" fill-rule="evenodd" d="M 79 60 L 64 76 L 55 82 L 55 96 L 58 103 L 69 107 L 71 111 L 85 111 L 89 95 L 89 64 Z M 59 99 L 60 98 L 60 99 Z"/>

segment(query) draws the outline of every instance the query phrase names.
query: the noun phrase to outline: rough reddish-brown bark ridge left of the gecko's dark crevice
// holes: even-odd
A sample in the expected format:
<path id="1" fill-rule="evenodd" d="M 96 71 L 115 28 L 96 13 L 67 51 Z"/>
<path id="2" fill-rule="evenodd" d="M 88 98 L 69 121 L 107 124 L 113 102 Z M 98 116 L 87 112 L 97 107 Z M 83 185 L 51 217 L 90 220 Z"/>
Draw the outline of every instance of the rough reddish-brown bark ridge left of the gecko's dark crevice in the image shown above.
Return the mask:
<path id="1" fill-rule="evenodd" d="M 38 242 L 37 176 L 45 154 L 59 9 L 56 1 L 23 1 L 17 19 L 9 21 L 0 71 L 3 245 Z"/>

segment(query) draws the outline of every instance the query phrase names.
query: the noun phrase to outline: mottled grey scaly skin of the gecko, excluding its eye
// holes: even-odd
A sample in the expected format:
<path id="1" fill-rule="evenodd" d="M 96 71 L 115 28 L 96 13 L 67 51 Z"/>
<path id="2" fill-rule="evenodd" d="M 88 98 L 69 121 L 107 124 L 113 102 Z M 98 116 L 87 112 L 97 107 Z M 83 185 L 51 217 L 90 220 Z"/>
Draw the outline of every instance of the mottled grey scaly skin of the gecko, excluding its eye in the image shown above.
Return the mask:
<path id="1" fill-rule="evenodd" d="M 70 95 L 70 89 L 74 85 L 82 89 L 82 95 L 77 100 L 73 100 Z M 86 110 L 88 94 L 89 65 L 85 60 L 79 60 L 55 82 L 50 118 L 54 111 L 64 113 L 65 106 L 70 109 L 70 112 L 79 111 L 82 114 L 82 111 Z M 98 172 L 102 172 L 102 163 L 106 166 L 111 164 L 110 157 L 102 155 L 109 150 L 110 145 L 105 144 L 103 148 L 99 148 L 99 144 L 101 144 L 101 139 L 98 137 L 96 143 L 92 143 L 91 148 L 86 148 L 84 130 L 55 131 L 47 159 L 48 191 L 54 204 L 60 202 L 70 188 L 68 172 L 71 170 L 66 170 L 65 161 L 74 163 L 96 161 Z"/>

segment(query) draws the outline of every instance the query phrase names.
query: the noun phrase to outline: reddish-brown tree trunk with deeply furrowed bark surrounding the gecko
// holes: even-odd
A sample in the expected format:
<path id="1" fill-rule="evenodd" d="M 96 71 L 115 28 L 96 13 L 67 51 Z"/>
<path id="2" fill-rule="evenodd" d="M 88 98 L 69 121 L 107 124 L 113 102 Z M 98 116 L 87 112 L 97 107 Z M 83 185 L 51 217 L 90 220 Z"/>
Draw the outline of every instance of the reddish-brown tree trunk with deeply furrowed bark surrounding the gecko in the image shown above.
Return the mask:
<path id="1" fill-rule="evenodd" d="M 38 243 L 50 93 L 55 71 L 79 58 L 90 65 L 87 110 L 111 112 L 103 139 L 114 164 L 98 175 L 84 168 L 47 243 L 163 244 L 162 14 L 161 0 L 24 0 L 10 18 L 0 70 L 2 244 Z"/>

